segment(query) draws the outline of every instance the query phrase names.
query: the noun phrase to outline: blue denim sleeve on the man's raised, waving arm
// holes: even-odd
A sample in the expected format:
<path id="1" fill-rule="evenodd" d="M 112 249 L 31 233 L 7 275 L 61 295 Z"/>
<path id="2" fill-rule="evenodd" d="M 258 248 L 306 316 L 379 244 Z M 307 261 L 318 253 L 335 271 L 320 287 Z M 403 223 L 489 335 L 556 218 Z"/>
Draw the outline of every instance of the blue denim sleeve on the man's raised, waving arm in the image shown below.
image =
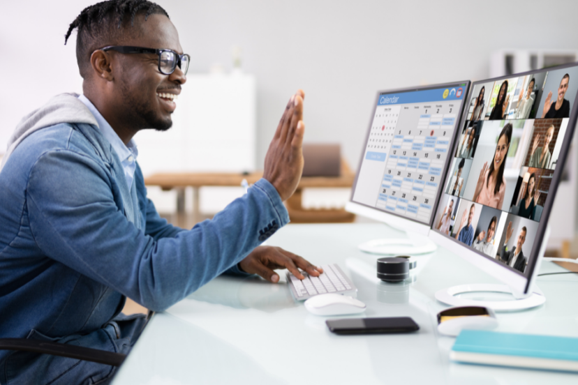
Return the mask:
<path id="1" fill-rule="evenodd" d="M 104 165 L 82 153 L 43 154 L 27 186 L 31 232 L 47 257 L 151 310 L 235 266 L 289 221 L 276 189 L 261 179 L 213 220 L 161 237 L 153 229 L 168 230 L 153 215 L 157 225 L 146 234 L 119 211 L 114 183 Z"/>

